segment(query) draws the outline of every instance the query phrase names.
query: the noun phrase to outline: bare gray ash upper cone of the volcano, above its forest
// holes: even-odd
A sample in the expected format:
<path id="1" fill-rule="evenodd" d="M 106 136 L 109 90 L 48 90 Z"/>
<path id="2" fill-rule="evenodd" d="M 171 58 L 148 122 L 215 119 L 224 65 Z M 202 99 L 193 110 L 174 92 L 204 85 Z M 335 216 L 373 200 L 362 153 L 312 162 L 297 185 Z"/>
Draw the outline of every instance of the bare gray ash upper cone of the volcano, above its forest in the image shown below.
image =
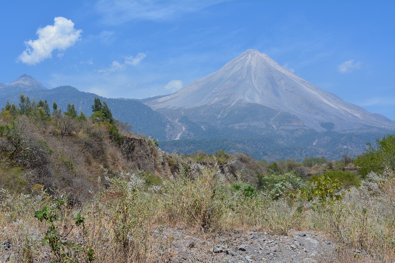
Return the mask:
<path id="1" fill-rule="evenodd" d="M 268 124 L 274 128 L 283 125 L 324 131 L 324 124 L 332 126 L 334 131 L 367 126 L 395 130 L 394 121 L 347 103 L 335 94 L 301 79 L 256 50 L 244 52 L 215 73 L 173 94 L 145 103 L 173 118 L 194 115 L 192 112 L 195 109 L 199 112 L 206 109 L 202 116 L 212 115 L 213 119 L 221 119 L 226 117 L 229 109 L 235 111 L 252 103 L 266 107 L 270 116 Z M 276 122 L 276 116 L 284 114 L 293 120 Z M 254 112 L 239 118 L 248 119 L 251 115 Z M 204 121 L 205 117 L 201 120 Z M 261 115 L 255 117 L 257 121 L 265 118 Z"/>

